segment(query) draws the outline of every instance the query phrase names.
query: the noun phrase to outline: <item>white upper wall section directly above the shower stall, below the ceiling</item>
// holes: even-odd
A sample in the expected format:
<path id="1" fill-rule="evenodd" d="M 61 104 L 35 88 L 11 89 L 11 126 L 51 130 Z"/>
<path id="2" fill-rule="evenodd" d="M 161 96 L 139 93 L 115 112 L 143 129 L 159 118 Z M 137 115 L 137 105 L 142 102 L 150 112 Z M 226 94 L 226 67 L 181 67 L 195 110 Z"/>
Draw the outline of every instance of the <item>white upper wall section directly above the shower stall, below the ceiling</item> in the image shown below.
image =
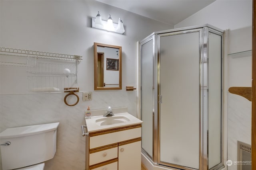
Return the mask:
<path id="1" fill-rule="evenodd" d="M 209 23 L 220 29 L 240 29 L 252 25 L 252 0 L 216 0 L 175 28 Z"/>

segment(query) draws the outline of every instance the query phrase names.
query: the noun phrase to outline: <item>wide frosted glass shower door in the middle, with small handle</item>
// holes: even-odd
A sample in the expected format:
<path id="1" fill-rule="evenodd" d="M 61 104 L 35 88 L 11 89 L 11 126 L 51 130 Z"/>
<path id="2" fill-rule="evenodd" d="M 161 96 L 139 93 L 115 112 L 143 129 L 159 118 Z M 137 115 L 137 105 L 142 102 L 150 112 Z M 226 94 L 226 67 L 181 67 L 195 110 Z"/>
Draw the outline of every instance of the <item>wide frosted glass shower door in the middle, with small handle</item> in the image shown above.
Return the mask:
<path id="1" fill-rule="evenodd" d="M 160 164 L 199 169 L 199 40 L 199 31 L 160 35 Z"/>

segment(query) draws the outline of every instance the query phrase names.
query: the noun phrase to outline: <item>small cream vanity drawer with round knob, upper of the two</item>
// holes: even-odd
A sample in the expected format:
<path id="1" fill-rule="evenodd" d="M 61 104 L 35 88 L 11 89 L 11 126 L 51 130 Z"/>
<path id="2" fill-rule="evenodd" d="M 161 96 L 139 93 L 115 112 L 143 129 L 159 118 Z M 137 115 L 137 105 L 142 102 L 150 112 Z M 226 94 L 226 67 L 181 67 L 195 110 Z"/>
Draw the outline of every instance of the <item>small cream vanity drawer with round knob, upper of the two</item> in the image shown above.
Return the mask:
<path id="1" fill-rule="evenodd" d="M 89 165 L 98 164 L 118 157 L 118 145 L 90 151 Z"/>

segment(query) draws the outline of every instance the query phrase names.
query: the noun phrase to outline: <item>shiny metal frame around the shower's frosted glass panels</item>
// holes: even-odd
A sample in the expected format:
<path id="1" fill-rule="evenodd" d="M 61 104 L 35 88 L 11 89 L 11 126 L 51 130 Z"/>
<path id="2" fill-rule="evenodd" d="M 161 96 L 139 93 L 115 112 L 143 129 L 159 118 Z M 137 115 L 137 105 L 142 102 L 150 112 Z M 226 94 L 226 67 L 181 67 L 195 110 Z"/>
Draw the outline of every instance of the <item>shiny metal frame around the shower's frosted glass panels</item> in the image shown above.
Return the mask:
<path id="1" fill-rule="evenodd" d="M 142 45 L 147 43 L 150 40 L 153 40 L 153 70 L 154 70 L 154 77 L 153 77 L 153 88 L 154 88 L 154 94 L 153 99 L 154 103 L 152 103 L 152 106 L 154 106 L 154 111 L 152 113 L 153 115 L 153 152 L 152 157 L 144 150 L 142 149 L 142 153 L 152 162 L 152 164 L 157 166 L 169 166 L 172 168 L 177 169 L 184 169 L 184 170 L 196 170 L 194 168 L 188 168 L 184 166 L 179 166 L 176 164 L 169 164 L 166 162 L 160 161 L 160 117 L 159 117 L 159 102 L 160 102 L 160 37 L 162 36 L 168 36 L 168 35 L 177 35 L 177 34 L 184 34 L 184 33 L 192 33 L 192 32 L 199 32 L 200 39 L 200 147 L 199 147 L 199 170 L 208 170 L 209 167 L 209 153 L 208 153 L 208 131 L 209 131 L 209 112 L 208 112 L 208 82 L 205 84 L 203 82 L 204 74 L 208 74 L 208 56 L 209 56 L 209 44 L 208 44 L 208 37 L 209 33 L 214 33 L 221 36 L 221 43 L 222 43 L 222 113 L 223 113 L 223 30 L 218 29 L 212 25 L 205 24 L 205 25 L 199 25 L 199 26 L 193 26 L 193 27 L 185 27 L 185 28 L 178 28 L 178 29 L 169 29 L 164 31 L 158 31 L 154 32 L 148 37 L 144 38 L 142 41 L 140 41 L 140 54 L 142 53 Z M 140 62 L 140 69 L 141 72 L 141 56 L 139 59 Z M 207 64 L 203 64 L 204 62 L 207 62 Z M 206 70 L 206 71 L 204 71 Z M 208 75 L 207 75 L 208 79 Z M 140 76 L 140 83 L 139 86 L 141 86 L 141 76 Z M 207 87 L 207 92 L 204 92 L 204 89 L 202 86 Z M 141 96 L 141 88 L 139 92 L 139 96 Z M 207 103 L 203 102 L 203 98 L 207 98 Z M 140 106 L 141 106 L 141 98 L 140 98 Z M 203 107 L 204 106 L 204 107 Z M 206 106 L 206 107 L 205 107 Z M 212 167 L 210 170 L 217 170 L 224 167 L 223 163 L 223 115 L 221 113 L 221 162 L 217 164 L 216 166 Z M 140 110 L 141 115 L 141 110 Z"/>

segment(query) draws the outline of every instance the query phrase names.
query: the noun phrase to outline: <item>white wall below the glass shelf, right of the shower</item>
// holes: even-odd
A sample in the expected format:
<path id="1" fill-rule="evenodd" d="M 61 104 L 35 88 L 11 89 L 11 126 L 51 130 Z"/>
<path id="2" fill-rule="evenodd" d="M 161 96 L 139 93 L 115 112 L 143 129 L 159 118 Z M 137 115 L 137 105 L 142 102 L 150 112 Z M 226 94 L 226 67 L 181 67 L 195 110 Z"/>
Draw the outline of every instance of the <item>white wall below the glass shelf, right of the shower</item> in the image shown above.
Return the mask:
<path id="1" fill-rule="evenodd" d="M 230 55 L 229 87 L 252 86 L 252 53 Z M 228 159 L 238 160 L 237 142 L 251 145 L 252 102 L 242 96 L 228 94 Z M 230 166 L 228 170 L 237 170 Z"/>

